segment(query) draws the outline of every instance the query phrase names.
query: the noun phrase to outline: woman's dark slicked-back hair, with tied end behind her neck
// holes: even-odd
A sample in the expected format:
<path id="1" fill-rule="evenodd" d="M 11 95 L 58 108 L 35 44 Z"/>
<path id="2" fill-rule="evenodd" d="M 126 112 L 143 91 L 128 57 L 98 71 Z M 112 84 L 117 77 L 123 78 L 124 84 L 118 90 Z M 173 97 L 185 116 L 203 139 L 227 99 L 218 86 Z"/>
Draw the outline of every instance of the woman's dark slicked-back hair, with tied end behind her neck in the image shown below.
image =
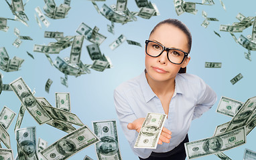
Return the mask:
<path id="1" fill-rule="evenodd" d="M 152 31 L 150 32 L 150 35 L 155 31 L 155 29 L 157 29 L 157 27 L 159 27 L 159 25 L 163 25 L 163 24 L 168 24 L 168 25 L 173 25 L 174 27 L 178 27 L 180 30 L 182 30 L 186 34 L 188 38 L 188 53 L 190 53 L 190 50 L 192 47 L 192 35 L 188 27 L 178 19 L 166 19 L 164 21 L 160 21 L 159 23 L 157 23 L 157 25 L 155 25 L 155 27 L 153 27 Z M 180 68 L 179 73 L 186 73 L 186 67 Z"/>

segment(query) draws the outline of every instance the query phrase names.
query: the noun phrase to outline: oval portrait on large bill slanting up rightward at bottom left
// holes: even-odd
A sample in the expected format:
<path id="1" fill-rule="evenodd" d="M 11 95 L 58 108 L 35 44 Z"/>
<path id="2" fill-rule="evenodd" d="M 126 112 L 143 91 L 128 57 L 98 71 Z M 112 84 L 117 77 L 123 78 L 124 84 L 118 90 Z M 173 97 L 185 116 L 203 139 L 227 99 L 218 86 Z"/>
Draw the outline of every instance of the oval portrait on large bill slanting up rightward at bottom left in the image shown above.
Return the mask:
<path id="1" fill-rule="evenodd" d="M 60 139 L 60 141 L 56 143 L 56 149 L 58 153 L 62 155 L 72 155 L 76 150 L 76 145 L 69 139 Z"/>

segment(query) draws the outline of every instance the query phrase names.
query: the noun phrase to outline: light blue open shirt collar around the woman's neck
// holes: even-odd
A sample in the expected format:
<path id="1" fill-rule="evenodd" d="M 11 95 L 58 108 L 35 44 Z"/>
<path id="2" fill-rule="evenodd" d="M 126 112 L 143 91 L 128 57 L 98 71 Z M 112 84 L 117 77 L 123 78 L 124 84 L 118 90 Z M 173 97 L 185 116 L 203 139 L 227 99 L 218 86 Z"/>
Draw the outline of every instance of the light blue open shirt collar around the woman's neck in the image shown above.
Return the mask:
<path id="1" fill-rule="evenodd" d="M 143 96 L 145 98 L 145 101 L 148 102 L 150 101 L 153 97 L 157 97 L 155 95 L 155 93 L 153 93 L 151 87 L 149 86 L 149 84 L 147 83 L 147 78 L 146 78 L 146 75 L 145 75 L 145 72 L 146 70 L 143 71 L 143 73 L 141 73 L 139 79 L 140 79 L 140 85 L 141 85 L 141 91 L 143 93 Z M 182 94 L 182 85 L 180 84 L 180 74 L 178 73 L 176 75 L 176 78 L 175 78 L 175 90 L 174 90 L 174 95 L 173 97 L 176 95 L 176 93 L 180 93 Z"/>

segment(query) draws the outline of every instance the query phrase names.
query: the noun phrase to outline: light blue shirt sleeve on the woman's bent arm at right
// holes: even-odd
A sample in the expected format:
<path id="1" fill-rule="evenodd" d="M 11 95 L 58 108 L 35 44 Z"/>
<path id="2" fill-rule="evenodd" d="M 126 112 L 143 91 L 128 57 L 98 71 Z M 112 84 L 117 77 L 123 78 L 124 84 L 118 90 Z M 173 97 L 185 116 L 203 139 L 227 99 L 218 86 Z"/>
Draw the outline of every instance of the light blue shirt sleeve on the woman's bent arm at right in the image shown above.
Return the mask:
<path id="1" fill-rule="evenodd" d="M 208 111 L 217 100 L 216 93 L 200 78 L 199 84 L 200 89 L 198 93 L 198 102 L 194 108 L 192 120 L 200 117 L 202 113 Z"/>

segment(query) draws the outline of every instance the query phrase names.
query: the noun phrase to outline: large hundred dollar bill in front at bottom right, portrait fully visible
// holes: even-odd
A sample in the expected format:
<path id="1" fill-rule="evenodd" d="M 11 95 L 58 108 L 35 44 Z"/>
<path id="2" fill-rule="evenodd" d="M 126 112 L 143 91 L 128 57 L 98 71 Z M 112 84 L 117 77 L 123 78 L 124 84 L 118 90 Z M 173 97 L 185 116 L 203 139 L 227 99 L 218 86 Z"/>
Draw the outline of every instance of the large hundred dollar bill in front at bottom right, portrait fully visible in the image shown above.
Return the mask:
<path id="1" fill-rule="evenodd" d="M 245 127 L 240 127 L 233 131 L 222 133 L 221 135 L 188 142 L 184 145 L 188 159 L 194 159 L 204 155 L 226 151 L 245 143 Z"/>

